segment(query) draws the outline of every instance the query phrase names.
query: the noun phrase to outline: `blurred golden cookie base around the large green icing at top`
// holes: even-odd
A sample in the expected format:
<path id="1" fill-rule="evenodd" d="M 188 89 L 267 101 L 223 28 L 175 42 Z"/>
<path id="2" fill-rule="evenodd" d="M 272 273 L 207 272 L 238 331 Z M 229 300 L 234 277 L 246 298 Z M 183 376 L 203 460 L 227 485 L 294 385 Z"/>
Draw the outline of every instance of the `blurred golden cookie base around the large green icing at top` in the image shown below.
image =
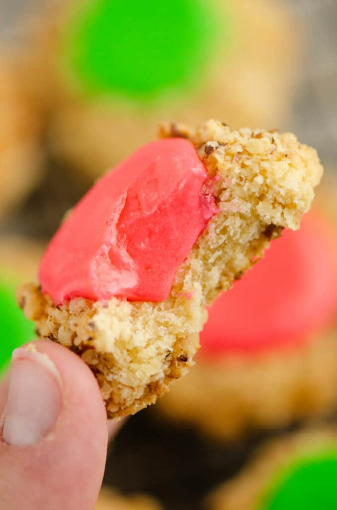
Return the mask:
<path id="1" fill-rule="evenodd" d="M 33 90 L 36 108 L 48 119 L 46 138 L 56 157 L 96 179 L 153 138 L 153 126 L 165 118 L 196 124 L 216 112 L 235 127 L 280 125 L 298 74 L 298 23 L 276 0 L 205 3 L 220 27 L 231 26 L 230 34 L 220 34 L 205 73 L 200 71 L 187 98 L 183 92 L 169 94 L 147 108 L 114 95 L 96 101 L 78 95 L 58 65 L 62 20 L 69 2 L 57 2 L 57 7 L 41 14 L 24 48 L 26 83 Z"/>

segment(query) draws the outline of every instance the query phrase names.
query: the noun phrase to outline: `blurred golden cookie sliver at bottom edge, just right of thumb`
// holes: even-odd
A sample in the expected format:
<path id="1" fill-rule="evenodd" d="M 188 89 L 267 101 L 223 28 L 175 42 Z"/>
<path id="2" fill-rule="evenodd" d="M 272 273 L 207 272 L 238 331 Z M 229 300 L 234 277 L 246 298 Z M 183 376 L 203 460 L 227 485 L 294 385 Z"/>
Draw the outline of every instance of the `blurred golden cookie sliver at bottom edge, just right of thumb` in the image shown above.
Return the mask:
<path id="1" fill-rule="evenodd" d="M 95 510 L 161 510 L 161 506 L 148 496 L 136 495 L 126 498 L 113 489 L 103 488 Z"/>

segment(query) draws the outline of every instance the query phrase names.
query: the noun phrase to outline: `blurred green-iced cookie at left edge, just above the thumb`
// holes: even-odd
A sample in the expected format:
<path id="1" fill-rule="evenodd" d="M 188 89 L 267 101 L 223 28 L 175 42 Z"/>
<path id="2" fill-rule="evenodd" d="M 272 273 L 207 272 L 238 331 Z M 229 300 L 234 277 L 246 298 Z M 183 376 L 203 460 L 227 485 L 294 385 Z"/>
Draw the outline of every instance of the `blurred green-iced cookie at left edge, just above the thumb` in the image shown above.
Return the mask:
<path id="1" fill-rule="evenodd" d="M 0 375 L 10 363 L 13 349 L 34 339 L 34 323 L 22 316 L 16 288 L 27 278 L 37 279 L 43 247 L 17 236 L 0 236 Z"/>

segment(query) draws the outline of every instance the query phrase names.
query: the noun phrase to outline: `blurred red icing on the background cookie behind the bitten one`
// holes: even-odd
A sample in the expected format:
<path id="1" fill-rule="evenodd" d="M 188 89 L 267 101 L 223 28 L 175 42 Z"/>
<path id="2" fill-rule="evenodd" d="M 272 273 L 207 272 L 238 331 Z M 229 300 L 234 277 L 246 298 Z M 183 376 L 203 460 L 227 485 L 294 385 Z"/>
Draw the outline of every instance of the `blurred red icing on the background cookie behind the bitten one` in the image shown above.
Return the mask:
<path id="1" fill-rule="evenodd" d="M 306 215 L 209 310 L 201 353 L 254 353 L 304 340 L 337 311 L 336 251 L 322 219 Z"/>

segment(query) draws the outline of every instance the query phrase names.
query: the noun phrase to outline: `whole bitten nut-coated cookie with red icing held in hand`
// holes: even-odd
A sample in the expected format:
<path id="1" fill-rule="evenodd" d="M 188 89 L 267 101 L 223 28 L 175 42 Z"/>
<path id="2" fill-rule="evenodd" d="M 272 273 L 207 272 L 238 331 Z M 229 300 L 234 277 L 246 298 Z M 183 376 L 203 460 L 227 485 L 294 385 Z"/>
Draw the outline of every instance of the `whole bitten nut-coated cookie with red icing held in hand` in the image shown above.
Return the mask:
<path id="1" fill-rule="evenodd" d="M 109 417 L 153 403 L 187 371 L 206 305 L 282 228 L 298 228 L 322 175 L 289 133 L 211 120 L 161 134 L 79 202 L 42 259 L 42 291 L 18 293 L 38 334 L 92 368 Z"/>

